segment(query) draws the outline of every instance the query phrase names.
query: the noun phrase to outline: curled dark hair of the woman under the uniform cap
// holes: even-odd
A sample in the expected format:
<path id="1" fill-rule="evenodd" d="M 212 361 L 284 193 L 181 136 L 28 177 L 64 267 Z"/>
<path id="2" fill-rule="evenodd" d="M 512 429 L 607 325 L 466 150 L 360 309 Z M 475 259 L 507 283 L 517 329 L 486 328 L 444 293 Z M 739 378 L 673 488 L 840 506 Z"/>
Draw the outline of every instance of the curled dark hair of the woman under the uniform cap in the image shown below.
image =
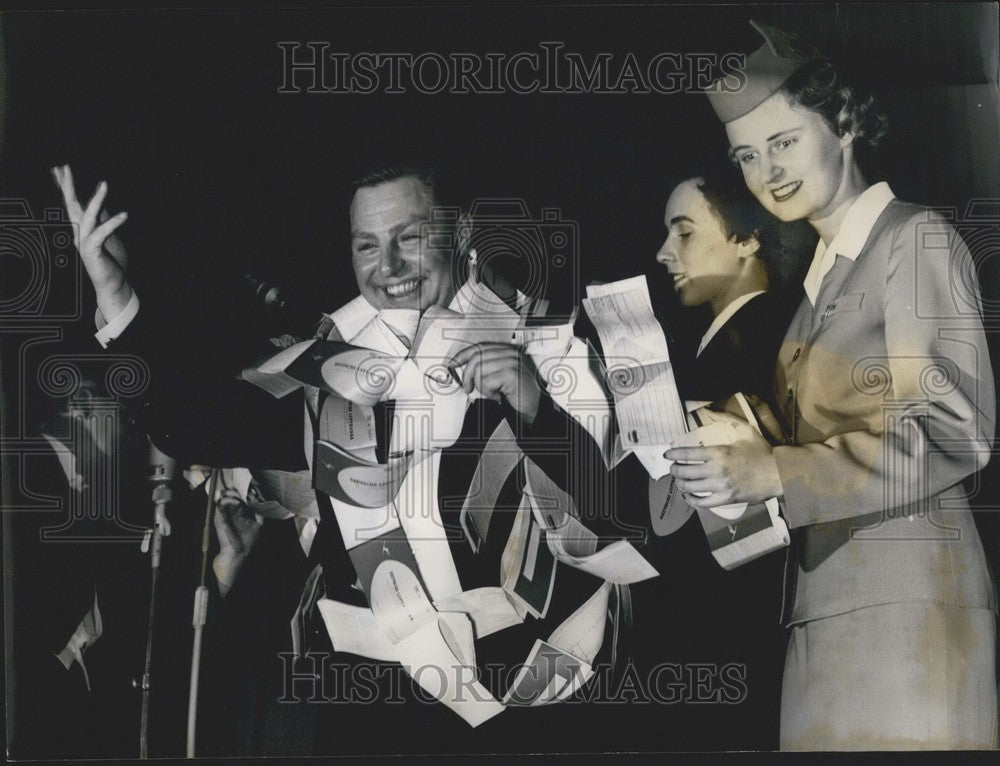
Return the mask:
<path id="1" fill-rule="evenodd" d="M 885 114 L 877 107 L 874 97 L 861 95 L 845 82 L 832 61 L 810 58 L 778 92 L 793 104 L 816 112 L 838 136 L 852 132 L 858 164 L 865 170 L 871 163 L 875 148 L 885 135 Z"/>

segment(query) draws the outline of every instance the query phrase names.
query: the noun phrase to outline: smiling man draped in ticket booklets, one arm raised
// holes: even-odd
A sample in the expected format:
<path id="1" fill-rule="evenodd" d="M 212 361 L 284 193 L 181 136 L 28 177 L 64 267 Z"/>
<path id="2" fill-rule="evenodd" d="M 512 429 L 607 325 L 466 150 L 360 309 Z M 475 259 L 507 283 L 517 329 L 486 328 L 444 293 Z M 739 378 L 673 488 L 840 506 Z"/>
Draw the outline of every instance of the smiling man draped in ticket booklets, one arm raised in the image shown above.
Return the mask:
<path id="1" fill-rule="evenodd" d="M 105 343 L 114 341 L 116 348 L 125 344 L 142 353 L 155 367 L 152 388 L 159 394 L 154 396 L 168 398 L 169 389 L 177 388 L 176 381 L 170 380 L 169 375 L 165 380 L 163 375 L 157 374 L 157 370 L 168 371 L 170 367 L 157 365 L 158 360 L 150 358 L 150 349 L 156 344 L 155 339 L 142 337 L 146 323 L 136 322 L 137 327 L 131 327 L 138 313 L 138 298 L 129 285 L 122 263 L 102 246 L 108 235 L 124 222 L 124 215 L 98 224 L 106 185 L 98 188 L 84 209 L 77 201 L 68 168 L 56 169 L 55 176 L 70 217 L 79 226 L 78 248 L 94 283 L 101 314 L 113 317 L 98 334 L 99 339 Z M 443 196 L 434 174 L 416 166 L 382 168 L 354 184 L 350 205 L 350 251 L 360 295 L 330 314 L 327 322 L 321 323 L 319 333 L 322 337 L 370 348 L 379 354 L 409 359 L 417 326 L 414 315 L 422 314 L 431 307 L 441 307 L 450 310 L 454 319 L 463 312 L 459 289 L 462 289 L 462 294 L 468 290 L 479 294 L 475 291 L 487 286 L 487 278 L 480 273 L 483 264 L 472 268 L 472 259 L 468 257 L 471 254 L 466 253 L 469 243 L 467 219 L 435 215 L 442 209 Z M 454 208 L 447 210 L 451 213 Z M 482 284 L 477 285 L 480 278 Z M 501 291 L 495 289 L 493 292 L 496 297 L 502 298 L 499 295 Z M 503 306 L 498 314 L 506 316 L 508 322 L 511 309 L 522 304 L 531 305 L 530 302 L 524 304 L 517 300 L 514 293 L 512 290 L 506 296 L 509 300 L 504 302 L 508 306 Z M 516 316 L 514 318 L 517 319 Z M 482 317 L 479 321 L 482 323 Z M 486 325 L 489 325 L 488 320 Z M 494 332 L 491 337 L 495 335 Z M 467 639 L 441 644 L 444 639 L 437 636 L 452 634 L 452 628 L 448 627 L 447 632 L 443 629 L 431 630 L 429 638 L 421 633 L 413 656 L 401 654 L 396 662 L 390 662 L 384 653 L 376 653 L 365 663 L 356 656 L 357 652 L 334 651 L 333 634 L 329 640 L 326 635 L 327 629 L 331 629 L 330 623 L 324 623 L 320 610 L 313 609 L 312 604 L 307 603 L 306 594 L 303 594 L 304 606 L 300 612 L 312 613 L 315 617 L 310 623 L 313 630 L 300 634 L 310 644 L 313 659 L 318 658 L 313 670 L 324 677 L 336 676 L 341 689 L 336 699 L 323 696 L 324 690 L 320 686 L 307 690 L 305 697 L 318 701 L 316 694 L 319 694 L 326 703 L 350 704 L 327 704 L 319 708 L 307 705 L 313 708 L 312 712 L 319 713 L 321 719 L 316 729 L 314 748 L 308 743 L 293 745 L 286 742 L 279 745 L 269 742 L 267 726 L 254 726 L 248 721 L 244 725 L 254 728 L 252 736 L 259 741 L 238 753 L 218 754 L 281 755 L 326 751 L 360 754 L 422 749 L 433 752 L 440 750 L 442 742 L 470 752 L 477 748 L 485 748 L 487 752 L 523 747 L 539 749 L 543 742 L 545 746 L 560 750 L 571 746 L 576 737 L 574 729 L 555 724 L 556 721 L 565 724 L 566 719 L 554 718 L 553 715 L 572 715 L 574 720 L 579 720 L 579 706 L 572 706 L 569 712 L 561 712 L 561 706 L 556 706 L 559 712 L 547 713 L 535 707 L 539 703 L 556 701 L 555 693 L 548 690 L 561 688 L 560 679 L 566 680 L 569 676 L 553 677 L 551 683 L 539 686 L 538 699 L 531 703 L 529 712 L 528 703 L 523 702 L 521 696 L 510 696 L 526 694 L 524 690 L 528 687 L 523 682 L 515 684 L 515 673 L 498 673 L 497 670 L 517 670 L 530 662 L 529 657 L 541 656 L 539 652 L 542 650 L 538 649 L 540 642 L 551 639 L 559 643 L 559 637 L 566 635 L 567 631 L 574 635 L 582 631 L 581 635 L 587 636 L 585 645 L 590 647 L 588 652 L 592 652 L 592 656 L 588 654 L 584 658 L 588 664 L 596 668 L 598 663 L 606 663 L 607 667 L 618 652 L 618 643 L 605 640 L 605 618 L 609 610 L 617 614 L 620 588 L 624 586 L 612 587 L 600 576 L 556 562 L 551 555 L 544 555 L 549 550 L 548 546 L 537 544 L 543 538 L 537 522 L 532 521 L 530 506 L 524 499 L 526 469 L 519 466 L 526 466 L 528 461 L 522 462 L 523 458 L 529 458 L 555 486 L 573 498 L 581 525 L 588 524 L 598 530 L 597 534 L 604 533 L 605 539 L 608 539 L 611 531 L 609 523 L 613 520 L 602 518 L 607 511 L 601 502 L 604 493 L 592 489 L 594 482 L 600 481 L 605 473 L 600 449 L 586 431 L 546 394 L 524 347 L 510 342 L 514 340 L 513 326 L 507 330 L 506 337 L 509 342 L 481 342 L 461 350 L 451 347 L 449 353 L 455 355 L 449 366 L 462 370 L 462 385 L 452 388 L 445 406 L 449 412 L 455 410 L 456 403 L 460 408 L 461 433 L 457 433 L 456 429 L 450 440 L 435 439 L 433 445 L 423 441 L 407 442 L 409 452 L 405 449 L 402 452 L 393 451 L 396 437 L 409 433 L 411 423 L 419 426 L 421 413 L 429 424 L 430 418 L 440 412 L 429 411 L 426 397 L 415 399 L 412 394 L 397 398 L 392 393 L 392 398 L 371 405 L 370 402 L 349 402 L 329 391 L 306 386 L 294 396 L 275 400 L 246 383 L 199 380 L 194 383 L 206 394 L 193 397 L 198 401 L 192 402 L 181 418 L 163 422 L 163 416 L 159 415 L 159 422 L 151 424 L 157 446 L 182 463 L 247 465 L 255 471 L 280 469 L 294 476 L 286 481 L 302 489 L 299 498 L 305 498 L 302 504 L 311 503 L 314 516 L 317 512 L 320 516 L 318 527 L 313 526 L 315 531 L 307 554 L 308 561 L 303 562 L 305 566 L 299 569 L 302 573 L 310 569 L 315 572 L 316 565 L 322 565 L 328 607 L 339 604 L 336 608 L 347 611 L 360 608 L 368 615 L 382 614 L 377 608 L 378 603 L 369 603 L 369 599 L 377 601 L 381 591 L 374 584 L 370 591 L 365 587 L 366 577 L 374 583 L 374 575 L 369 571 L 371 557 L 362 552 L 368 538 L 358 536 L 358 525 L 354 522 L 365 519 L 368 520 L 367 526 L 371 526 L 370 520 L 377 518 L 387 519 L 384 522 L 387 527 L 394 523 L 395 530 L 379 535 L 377 540 L 372 539 L 371 542 L 377 545 L 368 546 L 366 550 L 376 551 L 375 558 L 380 567 L 388 563 L 396 569 L 409 569 L 412 574 L 407 576 L 414 587 L 408 591 L 411 594 L 408 597 L 419 597 L 420 603 L 426 604 L 427 609 L 435 614 L 449 615 L 449 626 L 454 625 L 458 631 L 454 635 Z M 209 390 L 211 395 L 207 393 Z M 211 406 L 203 400 L 211 401 Z M 435 407 L 441 404 L 438 400 L 435 402 Z M 151 404 L 154 406 L 149 408 L 149 412 L 154 413 L 155 418 L 160 400 L 154 398 Z M 337 421 L 337 413 L 344 408 L 348 413 L 344 416 L 347 422 L 368 424 L 371 441 L 361 446 L 353 441 L 350 444 L 344 442 L 345 429 L 338 430 L 331 426 Z M 305 449 L 303 410 L 307 423 Z M 253 413 L 252 417 L 248 413 Z M 434 427 L 437 427 L 436 423 Z M 353 435 L 364 428 L 351 426 L 346 430 L 353 440 Z M 321 482 L 317 481 L 312 471 L 312 466 L 318 464 L 312 460 L 314 440 L 318 440 L 315 442 L 317 449 L 319 445 L 333 443 L 342 451 L 355 450 L 353 457 L 361 461 L 360 470 L 367 471 L 366 476 L 378 470 L 373 468 L 373 462 L 388 466 L 393 464 L 393 460 L 400 459 L 400 455 L 412 460 L 412 465 L 419 466 L 419 469 L 403 469 L 404 484 L 385 507 L 354 506 L 342 497 L 326 496 L 318 489 Z M 492 447 L 488 450 L 490 445 Z M 512 454 L 514 459 L 511 462 L 509 456 Z M 489 466 L 484 467 L 486 462 Z M 501 475 L 493 476 L 500 470 L 494 466 L 501 463 L 507 468 L 501 471 Z M 491 477 L 489 482 L 483 478 L 486 475 Z M 590 478 L 584 481 L 584 476 Z M 317 487 L 315 492 L 313 487 Z M 467 521 L 463 506 L 468 505 L 473 496 L 480 497 L 491 492 L 494 497 L 484 501 L 486 510 L 491 512 L 488 526 L 478 528 L 476 521 Z M 282 497 L 275 499 L 281 501 Z M 289 503 L 293 500 L 290 498 Z M 285 502 L 282 505 L 293 507 Z M 470 531 L 473 528 L 474 531 Z M 294 534 L 295 528 L 290 527 L 288 531 Z M 383 539 L 389 534 L 396 537 Z M 541 551 L 539 555 L 528 556 L 523 567 L 516 567 L 515 574 L 523 569 L 523 583 L 516 577 L 512 580 L 509 571 L 511 565 L 508 559 L 513 555 L 509 550 L 516 552 L 518 546 L 524 550 Z M 527 563 L 529 560 L 534 563 Z M 279 570 L 272 568 L 271 571 Z M 359 582 L 363 584 L 364 593 L 355 587 Z M 526 583 L 537 587 L 530 589 Z M 239 588 L 237 581 L 234 593 Z M 520 602 L 508 603 L 513 598 L 504 595 L 508 591 L 517 592 L 518 598 L 522 598 L 520 593 L 523 591 L 526 594 L 524 598 L 531 601 L 526 601 L 528 606 L 519 611 L 514 603 Z M 492 598 L 480 603 L 486 596 Z M 260 603 L 253 598 L 249 601 L 254 605 Z M 359 604 L 359 601 L 364 603 Z M 430 604 L 433 604 L 433 609 Z M 593 610 L 594 619 L 589 619 L 585 628 L 577 625 L 572 630 L 562 629 L 563 624 L 570 622 L 574 615 L 579 622 L 578 613 L 584 604 Z M 291 612 L 298 605 L 291 603 L 276 607 L 282 610 L 285 606 L 289 608 L 287 613 L 282 611 L 277 616 L 269 615 L 268 625 L 282 623 L 284 628 L 281 633 L 288 636 Z M 468 624 L 464 616 L 466 610 L 469 612 Z M 369 625 L 366 640 L 377 647 L 381 637 L 379 631 L 385 626 L 378 622 L 380 617 L 372 616 L 371 619 L 373 623 Z M 308 621 L 303 619 L 302 622 Z M 474 643 L 473 624 L 477 626 Z M 487 632 L 478 635 L 484 626 Z M 479 640 L 486 637 L 488 640 L 485 642 Z M 392 643 L 395 645 L 397 642 Z M 261 660 L 261 663 L 266 661 L 271 666 L 278 666 L 278 670 L 285 673 L 282 676 L 279 672 L 277 688 L 272 686 L 268 692 L 272 701 L 281 695 L 288 701 L 289 694 L 295 697 L 295 689 L 302 689 L 301 684 L 296 686 L 293 683 L 291 691 L 287 685 L 282 691 L 281 683 L 284 681 L 287 684 L 287 673 L 291 672 L 290 666 L 278 661 L 277 652 L 282 648 L 287 651 L 290 647 L 274 647 L 270 655 Z M 570 648 L 554 645 L 545 651 L 562 652 L 567 657 L 572 654 Z M 445 657 L 449 653 L 456 658 L 461 655 L 460 660 L 453 661 L 460 664 L 451 665 L 442 660 L 442 652 Z M 324 664 L 321 669 L 319 663 L 324 662 L 324 656 L 329 666 Z M 471 667 L 475 671 L 471 686 L 468 686 L 470 679 L 464 675 L 456 680 L 461 684 L 458 689 L 460 696 L 473 694 L 476 697 L 479 704 L 475 709 L 459 704 L 462 700 L 454 696 L 447 698 L 448 703 L 426 704 L 430 701 L 426 687 L 418 681 L 416 674 L 412 675 L 412 680 L 420 687 L 414 687 L 414 691 L 409 692 L 404 681 L 406 676 L 401 676 L 399 671 L 427 664 L 442 672 L 451 667 L 459 671 Z M 563 666 L 560 664 L 558 667 Z M 545 666 L 545 672 L 555 673 L 556 668 L 556 664 Z M 361 671 L 366 677 L 356 678 Z M 293 682 L 302 678 L 300 672 L 297 667 Z M 426 673 L 421 674 L 422 678 L 426 676 Z M 582 683 L 589 677 L 574 675 L 573 683 Z M 270 683 L 274 683 L 273 677 Z M 566 695 L 570 691 L 571 687 L 564 689 Z M 366 706 L 358 702 L 356 697 L 359 693 L 363 693 L 371 704 Z M 430 696 L 441 701 L 446 698 L 444 692 Z M 401 698 L 407 704 L 388 704 L 399 703 Z M 276 707 L 289 709 L 290 706 Z M 518 728 L 524 736 L 528 736 L 524 728 L 526 719 L 531 721 L 531 736 L 538 736 L 534 744 L 529 745 L 529 740 L 523 738 L 508 737 L 505 725 L 492 720 L 509 707 L 520 709 L 509 711 L 503 717 L 521 721 Z M 389 734 L 376 738 L 368 736 L 373 725 Z M 480 725 L 473 733 L 471 727 Z M 562 746 L 559 745 L 559 734 L 565 737 Z"/>

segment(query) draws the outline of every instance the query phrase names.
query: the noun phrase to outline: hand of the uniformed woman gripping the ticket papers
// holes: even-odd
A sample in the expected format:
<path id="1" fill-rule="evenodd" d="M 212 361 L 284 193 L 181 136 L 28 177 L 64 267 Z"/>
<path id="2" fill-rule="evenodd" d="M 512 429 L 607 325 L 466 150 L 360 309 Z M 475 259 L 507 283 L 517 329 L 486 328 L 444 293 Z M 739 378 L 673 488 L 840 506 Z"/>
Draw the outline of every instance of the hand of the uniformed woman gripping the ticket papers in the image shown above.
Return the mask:
<path id="1" fill-rule="evenodd" d="M 678 489 L 695 508 L 761 502 L 783 493 L 771 445 L 746 422 L 734 429 L 732 444 L 674 447 L 664 453 L 674 461 L 670 474 Z"/>

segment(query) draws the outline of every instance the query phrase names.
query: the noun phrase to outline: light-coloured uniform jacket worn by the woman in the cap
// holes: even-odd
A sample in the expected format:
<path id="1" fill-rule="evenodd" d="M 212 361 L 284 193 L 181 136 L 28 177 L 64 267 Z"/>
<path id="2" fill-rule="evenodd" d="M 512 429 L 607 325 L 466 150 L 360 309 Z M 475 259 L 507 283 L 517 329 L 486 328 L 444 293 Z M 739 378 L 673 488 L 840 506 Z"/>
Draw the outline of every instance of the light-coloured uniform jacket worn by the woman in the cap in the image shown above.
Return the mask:
<path id="1" fill-rule="evenodd" d="M 792 318 L 776 394 L 786 622 L 899 602 L 996 609 L 962 485 L 990 456 L 993 375 L 972 258 L 947 222 L 888 204 Z"/>

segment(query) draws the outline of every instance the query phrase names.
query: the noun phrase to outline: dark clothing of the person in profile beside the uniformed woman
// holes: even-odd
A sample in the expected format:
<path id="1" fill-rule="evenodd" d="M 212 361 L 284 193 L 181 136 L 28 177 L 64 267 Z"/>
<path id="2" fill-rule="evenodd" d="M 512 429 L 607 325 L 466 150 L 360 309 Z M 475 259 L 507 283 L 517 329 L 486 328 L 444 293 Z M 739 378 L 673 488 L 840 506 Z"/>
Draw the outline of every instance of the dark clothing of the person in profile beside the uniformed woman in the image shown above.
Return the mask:
<path id="1" fill-rule="evenodd" d="M 720 401 L 741 391 L 773 400 L 777 351 L 796 305 L 794 297 L 780 293 L 756 296 L 730 317 L 700 355 L 675 354 L 681 396 Z M 664 663 L 676 663 L 686 679 L 703 665 L 713 669 L 706 677 L 718 694 L 715 673 L 729 666 L 742 678 L 742 693 L 727 692 L 733 704 L 699 704 L 694 688 L 687 687 L 686 704 L 675 707 L 673 731 L 655 744 L 667 749 L 776 749 L 785 638 L 778 619 L 783 557 L 772 553 L 727 572 L 712 557 L 690 506 L 678 499 L 673 512 L 678 514 L 677 531 L 653 536 L 648 546 L 647 556 L 661 576 L 633 586 L 640 667 L 648 675 Z M 712 734 L 706 737 L 706 731 Z"/>

